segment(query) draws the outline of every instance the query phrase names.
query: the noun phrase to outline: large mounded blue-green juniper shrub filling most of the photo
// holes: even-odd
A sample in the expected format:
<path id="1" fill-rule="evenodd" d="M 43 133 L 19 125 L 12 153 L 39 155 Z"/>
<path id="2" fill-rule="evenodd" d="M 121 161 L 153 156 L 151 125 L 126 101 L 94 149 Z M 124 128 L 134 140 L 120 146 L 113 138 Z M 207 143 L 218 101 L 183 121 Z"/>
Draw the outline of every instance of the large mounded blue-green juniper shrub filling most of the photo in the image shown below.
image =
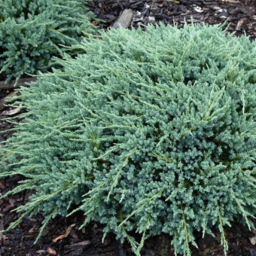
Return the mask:
<path id="1" fill-rule="evenodd" d="M 256 212 L 255 41 L 149 26 L 74 48 L 87 54 L 21 90 L 26 119 L 1 150 L 2 176 L 26 177 L 14 192 L 36 191 L 18 210 L 46 224 L 78 205 L 137 255 L 160 233 L 189 255 L 218 227 L 227 251 L 224 226 Z"/>

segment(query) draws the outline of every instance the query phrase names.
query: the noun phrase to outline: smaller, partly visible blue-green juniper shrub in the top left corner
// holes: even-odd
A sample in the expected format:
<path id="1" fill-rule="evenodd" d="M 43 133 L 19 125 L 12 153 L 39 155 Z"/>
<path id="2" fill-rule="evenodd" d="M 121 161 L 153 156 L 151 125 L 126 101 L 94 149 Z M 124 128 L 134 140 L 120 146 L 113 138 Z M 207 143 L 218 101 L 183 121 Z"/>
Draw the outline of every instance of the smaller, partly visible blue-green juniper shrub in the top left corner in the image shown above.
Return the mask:
<path id="1" fill-rule="evenodd" d="M 63 47 L 95 31 L 87 0 L 0 1 L 0 74 L 10 80 L 45 72 Z"/>

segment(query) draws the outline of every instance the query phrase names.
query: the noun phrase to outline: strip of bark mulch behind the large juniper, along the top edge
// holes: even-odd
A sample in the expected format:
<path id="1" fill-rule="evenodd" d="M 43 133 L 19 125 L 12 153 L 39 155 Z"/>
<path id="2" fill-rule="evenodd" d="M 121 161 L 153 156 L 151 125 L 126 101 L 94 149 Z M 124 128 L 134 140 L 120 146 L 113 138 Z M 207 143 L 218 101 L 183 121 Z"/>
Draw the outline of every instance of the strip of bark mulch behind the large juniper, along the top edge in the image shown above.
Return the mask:
<path id="1" fill-rule="evenodd" d="M 133 21 L 130 27 L 164 23 L 218 24 L 227 20 L 228 32 L 235 35 L 250 35 L 256 37 L 256 1 L 255 0 L 94 0 L 89 8 L 99 19 L 103 29 L 108 29 L 125 9 L 133 11 Z"/>

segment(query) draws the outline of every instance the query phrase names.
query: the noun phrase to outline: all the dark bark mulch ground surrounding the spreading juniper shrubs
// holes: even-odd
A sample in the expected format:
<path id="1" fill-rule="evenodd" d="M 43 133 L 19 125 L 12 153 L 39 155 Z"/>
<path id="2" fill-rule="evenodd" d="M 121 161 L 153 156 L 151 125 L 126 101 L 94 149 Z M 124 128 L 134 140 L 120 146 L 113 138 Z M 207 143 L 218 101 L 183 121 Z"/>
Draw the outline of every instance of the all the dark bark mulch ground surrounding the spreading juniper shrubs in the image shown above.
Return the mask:
<path id="1" fill-rule="evenodd" d="M 241 0 L 242 1 L 242 0 Z M 245 0 L 242 3 L 229 1 L 211 0 L 169 0 L 162 2 L 157 0 L 94 0 L 90 3 L 90 9 L 105 23 L 98 25 L 103 29 L 112 26 L 120 13 L 130 8 L 134 17 L 131 26 L 138 27 L 149 23 L 178 23 L 179 27 L 191 22 L 194 23 L 223 23 L 229 18 L 228 32 L 235 32 L 241 35 L 246 32 L 251 39 L 256 37 L 256 0 Z M 0 90 L 0 101 L 12 93 L 11 90 Z M 10 108 L 0 110 L 0 131 L 11 128 L 11 124 L 3 120 L 5 113 Z M 15 115 L 14 115 L 15 116 Z M 0 142 L 8 139 L 11 133 L 0 133 Z M 17 185 L 22 177 L 15 176 L 0 181 L 0 192 L 5 194 Z M 12 222 L 20 217 L 20 214 L 11 212 L 17 206 L 25 204 L 29 200 L 32 191 L 13 195 L 7 199 L 0 200 L 0 230 L 5 229 Z M 130 245 L 123 245 L 109 234 L 105 242 L 102 242 L 103 227 L 100 224 L 92 223 L 82 230 L 78 227 L 83 223 L 84 216 L 78 213 L 70 218 L 56 218 L 51 221 L 44 230 L 43 236 L 37 245 L 33 245 L 38 229 L 41 227 L 43 216 L 36 215 L 33 218 L 26 217 L 18 227 L 8 233 L 0 232 L 0 256 L 32 256 L 32 255 L 87 255 L 87 256 L 132 256 Z M 233 223 L 232 227 L 226 228 L 227 240 L 230 251 L 228 255 L 251 255 L 256 256 L 256 245 L 252 245 L 250 238 L 255 233 L 250 232 L 242 225 Z M 62 236 L 64 235 L 64 236 Z M 61 237 L 62 236 L 62 237 Z M 66 236 L 66 237 L 65 237 Z M 172 256 L 173 250 L 169 244 L 170 238 L 165 235 L 149 239 L 142 249 L 145 256 Z M 256 240 L 255 240 L 256 241 Z M 216 237 L 197 235 L 199 248 L 193 248 L 193 255 L 223 255 L 218 232 Z"/>

